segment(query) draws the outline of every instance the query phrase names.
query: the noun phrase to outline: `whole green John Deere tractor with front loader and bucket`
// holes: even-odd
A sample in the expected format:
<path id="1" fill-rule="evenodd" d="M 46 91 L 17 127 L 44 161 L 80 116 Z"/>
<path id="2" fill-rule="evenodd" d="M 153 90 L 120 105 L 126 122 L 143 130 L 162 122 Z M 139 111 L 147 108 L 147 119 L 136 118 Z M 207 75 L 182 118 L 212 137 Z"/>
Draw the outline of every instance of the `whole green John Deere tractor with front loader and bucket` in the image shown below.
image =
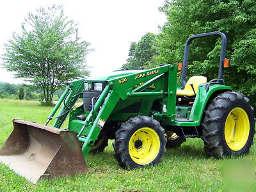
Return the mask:
<path id="1" fill-rule="evenodd" d="M 194 76 L 186 81 L 189 44 L 210 35 L 222 38 L 218 79 Z M 219 31 L 193 35 L 179 65 L 118 70 L 69 83 L 45 125 L 13 120 L 0 161 L 36 182 L 86 173 L 88 152 L 102 152 L 109 139 L 115 140 L 118 164 L 127 169 L 161 162 L 166 148 L 186 138 L 202 138 L 212 157 L 248 154 L 255 134 L 253 108 L 248 98 L 224 83 L 223 69 L 229 65 L 226 43 Z M 177 84 L 178 69 L 182 84 Z M 79 98 L 83 104 L 74 108 Z M 60 129 L 68 115 L 67 129 Z M 53 118 L 52 127 L 46 126 Z M 35 173 L 28 172 L 28 166 Z"/>

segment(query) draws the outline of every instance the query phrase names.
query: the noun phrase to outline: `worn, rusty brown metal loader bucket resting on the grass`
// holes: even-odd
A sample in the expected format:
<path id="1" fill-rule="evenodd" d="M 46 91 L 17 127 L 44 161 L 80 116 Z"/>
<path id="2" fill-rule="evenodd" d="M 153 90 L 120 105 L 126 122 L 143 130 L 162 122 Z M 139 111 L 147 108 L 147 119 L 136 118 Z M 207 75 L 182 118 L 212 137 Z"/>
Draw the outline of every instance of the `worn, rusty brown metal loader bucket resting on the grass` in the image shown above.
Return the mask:
<path id="1" fill-rule="evenodd" d="M 13 126 L 0 148 L 0 162 L 30 182 L 87 172 L 76 132 L 24 120 L 13 120 Z"/>

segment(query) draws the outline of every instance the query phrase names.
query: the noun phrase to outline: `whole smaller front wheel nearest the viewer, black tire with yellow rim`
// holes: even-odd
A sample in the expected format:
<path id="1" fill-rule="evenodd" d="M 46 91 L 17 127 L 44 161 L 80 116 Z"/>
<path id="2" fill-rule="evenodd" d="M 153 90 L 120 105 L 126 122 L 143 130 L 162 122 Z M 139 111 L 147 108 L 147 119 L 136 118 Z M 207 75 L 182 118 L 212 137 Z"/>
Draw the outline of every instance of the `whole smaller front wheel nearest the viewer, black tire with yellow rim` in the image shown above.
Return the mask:
<path id="1" fill-rule="evenodd" d="M 162 161 L 165 144 L 164 129 L 157 120 L 136 116 L 116 131 L 114 156 L 123 168 L 143 168 Z"/>

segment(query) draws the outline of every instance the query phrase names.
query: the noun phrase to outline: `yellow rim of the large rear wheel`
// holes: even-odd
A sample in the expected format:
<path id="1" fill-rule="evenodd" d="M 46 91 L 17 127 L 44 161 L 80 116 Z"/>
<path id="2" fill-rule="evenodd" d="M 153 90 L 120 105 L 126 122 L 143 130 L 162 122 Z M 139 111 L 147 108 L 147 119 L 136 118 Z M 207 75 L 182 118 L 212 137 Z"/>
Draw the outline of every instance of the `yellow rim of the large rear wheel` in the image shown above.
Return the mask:
<path id="1" fill-rule="evenodd" d="M 225 140 L 231 150 L 237 151 L 244 147 L 250 132 L 247 113 L 242 108 L 234 108 L 225 122 Z"/>

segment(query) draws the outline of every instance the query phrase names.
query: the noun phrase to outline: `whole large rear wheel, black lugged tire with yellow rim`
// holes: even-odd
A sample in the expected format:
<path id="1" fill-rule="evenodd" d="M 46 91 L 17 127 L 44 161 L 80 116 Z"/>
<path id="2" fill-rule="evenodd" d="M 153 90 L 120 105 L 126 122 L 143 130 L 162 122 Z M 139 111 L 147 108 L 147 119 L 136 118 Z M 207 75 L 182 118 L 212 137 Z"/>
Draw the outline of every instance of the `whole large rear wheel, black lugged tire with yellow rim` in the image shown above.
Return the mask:
<path id="1" fill-rule="evenodd" d="M 202 140 L 213 157 L 248 154 L 255 134 L 250 100 L 242 93 L 225 92 L 211 101 L 205 110 Z"/>

